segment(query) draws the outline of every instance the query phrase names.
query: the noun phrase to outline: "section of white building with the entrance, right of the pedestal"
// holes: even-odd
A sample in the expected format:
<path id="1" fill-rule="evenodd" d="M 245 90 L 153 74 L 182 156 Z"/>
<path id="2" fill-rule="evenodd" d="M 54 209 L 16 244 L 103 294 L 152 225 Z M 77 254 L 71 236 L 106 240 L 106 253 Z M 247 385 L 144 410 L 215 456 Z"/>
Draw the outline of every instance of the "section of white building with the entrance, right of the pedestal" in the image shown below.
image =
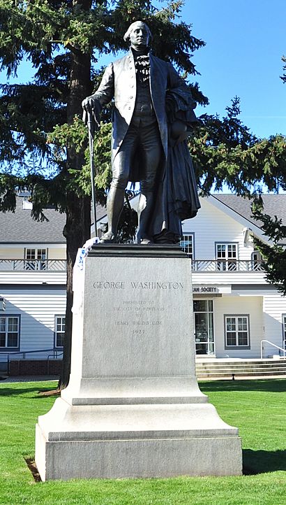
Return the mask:
<path id="1" fill-rule="evenodd" d="M 283 348 L 286 299 L 266 282 L 253 236 L 266 237 L 249 201 L 220 194 L 201 205 L 197 217 L 183 223 L 193 258 L 197 355 L 258 358 L 262 340 Z M 286 195 L 265 195 L 264 209 L 286 222 Z M 264 357 L 278 353 L 264 343 Z"/>

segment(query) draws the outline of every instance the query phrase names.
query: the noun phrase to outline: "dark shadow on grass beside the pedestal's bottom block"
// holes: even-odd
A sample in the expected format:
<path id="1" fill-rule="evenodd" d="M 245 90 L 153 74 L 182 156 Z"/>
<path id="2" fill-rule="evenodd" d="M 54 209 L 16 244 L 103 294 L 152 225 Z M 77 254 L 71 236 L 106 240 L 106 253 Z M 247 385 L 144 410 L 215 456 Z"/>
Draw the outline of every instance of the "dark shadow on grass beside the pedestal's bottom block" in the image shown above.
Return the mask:
<path id="1" fill-rule="evenodd" d="M 286 471 L 286 450 L 243 449 L 243 474 L 266 474 L 271 471 Z"/>

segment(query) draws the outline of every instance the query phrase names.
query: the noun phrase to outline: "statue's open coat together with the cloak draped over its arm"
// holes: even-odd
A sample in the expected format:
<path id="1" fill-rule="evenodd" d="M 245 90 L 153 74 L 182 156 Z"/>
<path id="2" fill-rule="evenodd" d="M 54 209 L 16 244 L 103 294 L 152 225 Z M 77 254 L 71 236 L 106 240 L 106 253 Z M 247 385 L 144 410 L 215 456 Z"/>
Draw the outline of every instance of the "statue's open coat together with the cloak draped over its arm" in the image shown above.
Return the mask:
<path id="1" fill-rule="evenodd" d="M 155 242 L 176 242 L 181 236 L 181 219 L 193 218 L 200 201 L 192 160 L 186 141 L 172 145 L 170 125 L 176 120 L 192 127 L 197 118 L 188 86 L 174 67 L 149 53 L 150 93 L 163 145 L 160 178 L 156 187 L 156 207 L 149 224 L 149 236 Z M 105 70 L 94 99 L 105 106 L 114 98 L 112 113 L 112 160 L 128 131 L 136 101 L 136 72 L 133 52 L 116 60 Z M 169 105 L 168 118 L 166 106 Z M 168 125 L 169 123 L 169 125 Z M 169 142 L 168 142 L 169 141 Z M 130 180 L 140 180 L 140 157 L 130 167 Z"/>

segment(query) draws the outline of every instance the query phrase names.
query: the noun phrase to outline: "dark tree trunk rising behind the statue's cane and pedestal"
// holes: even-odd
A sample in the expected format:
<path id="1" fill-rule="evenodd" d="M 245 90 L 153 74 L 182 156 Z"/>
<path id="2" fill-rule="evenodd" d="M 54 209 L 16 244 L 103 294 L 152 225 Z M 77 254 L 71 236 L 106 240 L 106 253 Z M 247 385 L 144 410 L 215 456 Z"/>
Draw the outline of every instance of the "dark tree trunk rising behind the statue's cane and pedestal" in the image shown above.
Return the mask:
<path id="1" fill-rule="evenodd" d="M 77 1 L 85 10 L 91 8 L 91 1 Z M 77 48 L 70 52 L 70 99 L 67 106 L 67 122 L 72 124 L 75 115 L 82 116 L 82 100 L 91 94 L 91 58 Z M 81 170 L 84 164 L 83 153 L 77 154 L 74 148 L 67 153 L 67 167 Z M 68 192 L 66 206 L 66 226 L 63 235 L 66 237 L 66 331 L 63 343 L 63 363 L 59 378 L 59 389 L 68 385 L 70 378 L 71 334 L 73 324 L 73 265 L 78 248 L 90 238 L 91 233 L 91 199 L 78 197 L 75 192 Z"/>

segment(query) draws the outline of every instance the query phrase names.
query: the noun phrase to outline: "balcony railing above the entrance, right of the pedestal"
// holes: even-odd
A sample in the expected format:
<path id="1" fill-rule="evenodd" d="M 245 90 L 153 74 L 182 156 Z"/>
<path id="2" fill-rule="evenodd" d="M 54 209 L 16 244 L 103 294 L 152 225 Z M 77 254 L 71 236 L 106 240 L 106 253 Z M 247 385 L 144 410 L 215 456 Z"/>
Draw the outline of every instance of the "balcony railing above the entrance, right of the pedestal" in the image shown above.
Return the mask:
<path id="1" fill-rule="evenodd" d="M 262 261 L 253 259 L 193 259 L 194 272 L 263 272 Z"/>

